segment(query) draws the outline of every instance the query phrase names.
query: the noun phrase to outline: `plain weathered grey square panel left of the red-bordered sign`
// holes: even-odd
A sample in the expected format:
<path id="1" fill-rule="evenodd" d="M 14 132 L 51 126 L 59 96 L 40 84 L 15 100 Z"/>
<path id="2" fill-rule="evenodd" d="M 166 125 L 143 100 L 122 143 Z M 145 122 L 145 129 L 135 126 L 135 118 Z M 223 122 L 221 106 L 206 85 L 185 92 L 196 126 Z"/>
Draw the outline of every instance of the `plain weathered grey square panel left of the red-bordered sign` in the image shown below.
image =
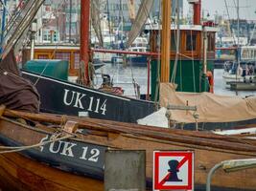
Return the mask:
<path id="1" fill-rule="evenodd" d="M 105 152 L 105 191 L 145 191 L 146 152 L 107 150 Z"/>

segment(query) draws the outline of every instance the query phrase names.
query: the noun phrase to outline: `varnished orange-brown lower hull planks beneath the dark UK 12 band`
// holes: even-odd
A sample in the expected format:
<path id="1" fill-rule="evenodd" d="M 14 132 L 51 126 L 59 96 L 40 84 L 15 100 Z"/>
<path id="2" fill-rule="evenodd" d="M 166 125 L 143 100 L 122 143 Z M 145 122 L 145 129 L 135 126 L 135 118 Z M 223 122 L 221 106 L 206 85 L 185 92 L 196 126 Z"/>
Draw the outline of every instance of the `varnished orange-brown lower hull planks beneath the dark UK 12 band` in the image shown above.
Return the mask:
<path id="1" fill-rule="evenodd" d="M 2 190 L 104 190 L 102 180 L 64 172 L 20 154 L 0 156 Z"/>

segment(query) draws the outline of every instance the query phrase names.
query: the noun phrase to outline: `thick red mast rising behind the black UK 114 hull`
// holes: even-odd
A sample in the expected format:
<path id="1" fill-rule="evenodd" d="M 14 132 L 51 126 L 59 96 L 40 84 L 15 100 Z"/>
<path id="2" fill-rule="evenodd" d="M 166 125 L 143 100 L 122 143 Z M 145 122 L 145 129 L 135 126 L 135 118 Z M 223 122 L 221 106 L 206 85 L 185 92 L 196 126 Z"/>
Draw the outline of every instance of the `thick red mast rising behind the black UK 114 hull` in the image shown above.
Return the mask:
<path id="1" fill-rule="evenodd" d="M 85 85 L 90 85 L 89 80 L 89 27 L 90 27 L 90 0 L 81 0 L 81 61 L 84 62 Z"/>

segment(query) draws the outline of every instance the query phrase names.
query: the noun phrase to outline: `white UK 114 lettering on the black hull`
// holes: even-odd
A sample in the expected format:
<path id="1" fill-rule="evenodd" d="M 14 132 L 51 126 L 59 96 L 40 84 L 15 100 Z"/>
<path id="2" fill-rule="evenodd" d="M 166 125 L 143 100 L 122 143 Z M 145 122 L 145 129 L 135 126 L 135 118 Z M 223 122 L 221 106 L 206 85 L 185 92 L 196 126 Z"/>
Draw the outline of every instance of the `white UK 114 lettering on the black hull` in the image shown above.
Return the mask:
<path id="1" fill-rule="evenodd" d="M 95 98 L 94 96 L 86 96 L 79 92 L 70 91 L 67 89 L 64 89 L 64 91 L 63 102 L 66 106 L 72 106 L 88 112 L 105 115 L 107 99 L 101 100 L 100 98 Z"/>

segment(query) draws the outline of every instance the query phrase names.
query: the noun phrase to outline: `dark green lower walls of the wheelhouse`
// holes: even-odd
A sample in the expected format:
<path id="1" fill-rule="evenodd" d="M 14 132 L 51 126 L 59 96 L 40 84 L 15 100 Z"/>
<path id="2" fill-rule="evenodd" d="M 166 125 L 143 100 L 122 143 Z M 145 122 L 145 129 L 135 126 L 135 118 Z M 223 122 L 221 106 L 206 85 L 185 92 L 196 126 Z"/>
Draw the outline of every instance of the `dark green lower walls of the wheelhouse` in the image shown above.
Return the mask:
<path id="1" fill-rule="evenodd" d="M 174 71 L 175 61 L 171 60 L 171 73 L 172 76 Z M 157 67 L 160 62 L 157 60 L 151 61 L 151 100 L 158 100 L 159 92 L 159 75 L 160 68 Z M 207 71 L 213 72 L 213 61 L 208 61 Z M 171 77 L 170 77 L 171 81 Z M 176 74 L 175 74 L 175 84 L 177 84 L 178 92 L 209 92 L 209 81 L 208 78 L 203 74 L 203 64 L 200 60 L 182 60 L 178 61 Z M 157 96 L 157 98 L 155 98 Z"/>

